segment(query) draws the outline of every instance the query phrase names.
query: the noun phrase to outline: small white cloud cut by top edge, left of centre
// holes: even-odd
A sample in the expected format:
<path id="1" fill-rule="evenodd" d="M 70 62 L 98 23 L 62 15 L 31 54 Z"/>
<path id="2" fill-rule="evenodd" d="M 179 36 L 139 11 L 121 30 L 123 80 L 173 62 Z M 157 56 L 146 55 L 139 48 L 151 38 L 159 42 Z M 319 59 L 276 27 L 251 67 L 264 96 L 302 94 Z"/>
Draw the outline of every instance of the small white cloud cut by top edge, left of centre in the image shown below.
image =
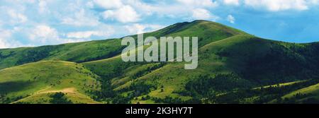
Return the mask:
<path id="1" fill-rule="evenodd" d="M 94 4 L 106 9 L 120 8 L 123 6 L 121 0 L 94 0 Z"/>

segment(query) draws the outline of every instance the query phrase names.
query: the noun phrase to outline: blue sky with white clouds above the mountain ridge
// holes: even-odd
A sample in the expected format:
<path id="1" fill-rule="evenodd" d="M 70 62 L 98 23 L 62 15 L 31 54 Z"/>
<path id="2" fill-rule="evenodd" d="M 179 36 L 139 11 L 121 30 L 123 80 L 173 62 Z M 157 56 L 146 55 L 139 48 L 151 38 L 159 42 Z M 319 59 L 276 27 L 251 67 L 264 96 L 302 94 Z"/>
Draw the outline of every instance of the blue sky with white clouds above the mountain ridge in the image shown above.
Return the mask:
<path id="1" fill-rule="evenodd" d="M 319 41 L 319 0 L 0 0 L 0 48 L 124 37 L 192 20 Z"/>

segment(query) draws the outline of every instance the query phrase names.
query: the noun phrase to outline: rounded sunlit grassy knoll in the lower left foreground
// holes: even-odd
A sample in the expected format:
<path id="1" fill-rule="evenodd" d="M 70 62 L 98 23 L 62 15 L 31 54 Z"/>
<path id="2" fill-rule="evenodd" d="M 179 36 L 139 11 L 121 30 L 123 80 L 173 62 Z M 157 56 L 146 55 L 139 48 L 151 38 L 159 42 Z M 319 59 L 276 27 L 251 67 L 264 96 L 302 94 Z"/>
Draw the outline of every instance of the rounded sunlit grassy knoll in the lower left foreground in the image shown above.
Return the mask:
<path id="1" fill-rule="evenodd" d="M 91 100 L 87 95 L 91 95 L 91 91 L 100 89 L 99 82 L 96 81 L 99 76 L 81 64 L 67 61 L 38 61 L 2 69 L 0 75 L 0 102 L 4 103 L 17 101 L 45 103 L 34 97 L 57 92 L 78 94 L 82 98 L 86 96 L 87 100 Z"/>

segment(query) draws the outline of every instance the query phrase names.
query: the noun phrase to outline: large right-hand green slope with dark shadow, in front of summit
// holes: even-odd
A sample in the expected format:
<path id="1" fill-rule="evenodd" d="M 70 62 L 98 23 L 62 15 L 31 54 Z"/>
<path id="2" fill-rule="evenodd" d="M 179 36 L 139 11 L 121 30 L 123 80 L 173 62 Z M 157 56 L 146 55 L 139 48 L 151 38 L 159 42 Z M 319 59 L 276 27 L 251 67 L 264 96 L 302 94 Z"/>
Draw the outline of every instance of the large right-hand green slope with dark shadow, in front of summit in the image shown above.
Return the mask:
<path id="1" fill-rule="evenodd" d="M 245 96 L 240 99 L 231 96 L 231 100 L 227 100 L 229 98 L 225 95 L 220 97 L 225 101 L 213 96 L 238 89 L 245 92 L 257 86 L 318 78 L 318 68 L 314 66 L 318 64 L 316 52 L 317 44 L 295 45 L 251 35 L 236 35 L 201 47 L 198 69 L 184 70 L 183 63 L 167 64 L 124 85 L 130 88 L 130 84 L 140 82 L 156 86 L 146 95 L 157 102 L 180 102 L 195 96 L 202 102 L 240 102 L 246 99 Z M 289 92 L 281 91 L 280 94 Z M 260 94 L 264 93 L 257 91 L 256 95 L 247 97 L 258 97 Z M 267 99 L 274 98 L 278 96 L 271 95 Z"/>

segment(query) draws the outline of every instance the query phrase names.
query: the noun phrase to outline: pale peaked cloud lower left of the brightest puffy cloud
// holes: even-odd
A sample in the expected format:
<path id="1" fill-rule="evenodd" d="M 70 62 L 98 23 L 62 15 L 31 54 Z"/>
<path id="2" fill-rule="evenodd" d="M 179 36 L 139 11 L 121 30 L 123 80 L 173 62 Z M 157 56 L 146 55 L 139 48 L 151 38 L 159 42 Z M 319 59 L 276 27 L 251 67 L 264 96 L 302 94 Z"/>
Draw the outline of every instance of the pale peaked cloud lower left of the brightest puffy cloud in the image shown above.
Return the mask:
<path id="1" fill-rule="evenodd" d="M 62 18 L 62 24 L 74 26 L 96 26 L 99 25 L 99 20 L 86 16 L 86 11 L 82 8 L 79 12 L 74 13 L 73 17 Z"/>

